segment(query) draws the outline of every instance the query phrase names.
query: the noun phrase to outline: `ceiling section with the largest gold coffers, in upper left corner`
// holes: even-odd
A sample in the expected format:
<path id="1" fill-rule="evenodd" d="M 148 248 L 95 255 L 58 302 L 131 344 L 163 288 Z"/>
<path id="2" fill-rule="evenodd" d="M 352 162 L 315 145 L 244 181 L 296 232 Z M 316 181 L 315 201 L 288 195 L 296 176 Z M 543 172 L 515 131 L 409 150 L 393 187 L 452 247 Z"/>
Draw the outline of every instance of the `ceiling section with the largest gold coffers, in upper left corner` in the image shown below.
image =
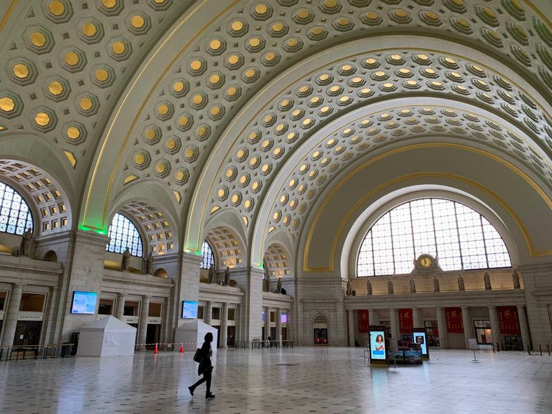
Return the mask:
<path id="1" fill-rule="evenodd" d="M 8 16 L 20 21 L 2 53 L 0 131 L 39 132 L 82 186 L 117 97 L 190 1 L 25 3 L 21 16 Z"/>

